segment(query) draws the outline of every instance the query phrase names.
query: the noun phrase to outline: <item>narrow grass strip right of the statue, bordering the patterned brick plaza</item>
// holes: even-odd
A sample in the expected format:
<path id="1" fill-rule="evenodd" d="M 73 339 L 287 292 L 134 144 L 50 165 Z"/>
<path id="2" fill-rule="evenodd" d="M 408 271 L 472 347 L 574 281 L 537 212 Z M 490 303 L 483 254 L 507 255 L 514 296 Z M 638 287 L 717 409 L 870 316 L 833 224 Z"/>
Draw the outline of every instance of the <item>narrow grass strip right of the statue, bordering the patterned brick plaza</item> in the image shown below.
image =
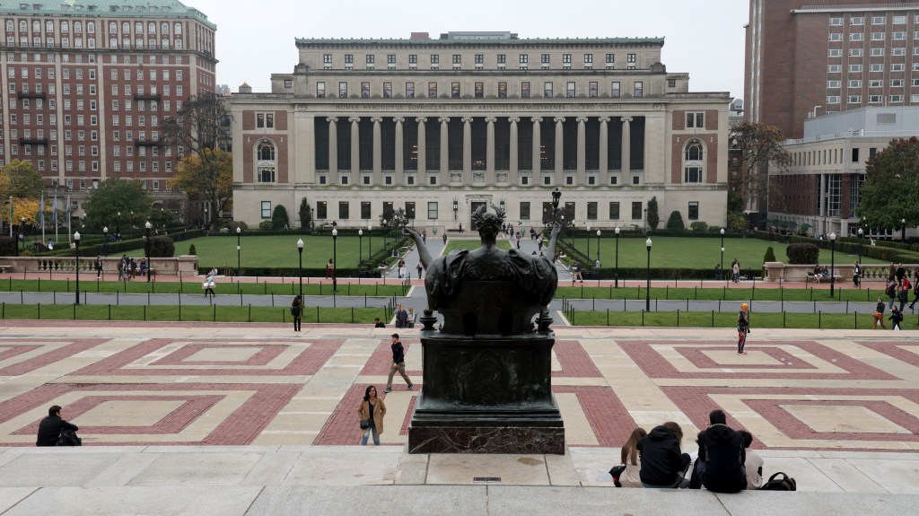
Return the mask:
<path id="1" fill-rule="evenodd" d="M 888 314 L 885 314 L 888 315 Z M 568 312 L 571 319 L 571 312 Z M 801 314 L 801 313 L 751 313 L 749 339 L 754 339 L 757 328 L 800 328 L 823 330 L 870 330 L 874 317 L 861 314 Z M 575 326 L 658 326 L 713 328 L 712 336 L 720 339 L 737 338 L 737 314 L 724 312 L 621 312 L 575 311 Z M 884 320 L 888 328 L 891 321 Z M 907 316 L 901 323 L 903 330 L 919 329 L 916 316 Z M 749 342 L 749 341 L 748 341 Z"/>

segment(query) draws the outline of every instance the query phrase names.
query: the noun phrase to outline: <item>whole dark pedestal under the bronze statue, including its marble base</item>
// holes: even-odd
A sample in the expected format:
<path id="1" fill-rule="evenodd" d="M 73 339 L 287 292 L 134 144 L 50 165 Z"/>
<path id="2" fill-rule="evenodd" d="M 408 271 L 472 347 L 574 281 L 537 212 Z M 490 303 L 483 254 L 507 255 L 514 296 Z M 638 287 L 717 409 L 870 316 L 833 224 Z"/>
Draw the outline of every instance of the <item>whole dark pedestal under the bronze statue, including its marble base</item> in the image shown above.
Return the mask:
<path id="1" fill-rule="evenodd" d="M 408 430 L 412 454 L 564 454 L 551 392 L 551 331 L 421 334 L 424 384 Z"/>

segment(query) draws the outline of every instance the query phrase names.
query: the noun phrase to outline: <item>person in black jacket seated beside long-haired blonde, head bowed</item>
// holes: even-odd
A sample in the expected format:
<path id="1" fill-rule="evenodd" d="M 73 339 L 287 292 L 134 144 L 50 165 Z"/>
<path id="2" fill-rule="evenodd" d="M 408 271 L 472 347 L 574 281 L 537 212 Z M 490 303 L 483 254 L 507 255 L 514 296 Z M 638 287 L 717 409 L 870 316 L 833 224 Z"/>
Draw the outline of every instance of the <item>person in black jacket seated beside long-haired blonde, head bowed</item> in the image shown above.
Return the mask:
<path id="1" fill-rule="evenodd" d="M 688 454 L 680 450 L 683 431 L 680 425 L 667 421 L 638 443 L 641 453 L 641 485 L 645 488 L 676 488 L 689 467 Z"/>

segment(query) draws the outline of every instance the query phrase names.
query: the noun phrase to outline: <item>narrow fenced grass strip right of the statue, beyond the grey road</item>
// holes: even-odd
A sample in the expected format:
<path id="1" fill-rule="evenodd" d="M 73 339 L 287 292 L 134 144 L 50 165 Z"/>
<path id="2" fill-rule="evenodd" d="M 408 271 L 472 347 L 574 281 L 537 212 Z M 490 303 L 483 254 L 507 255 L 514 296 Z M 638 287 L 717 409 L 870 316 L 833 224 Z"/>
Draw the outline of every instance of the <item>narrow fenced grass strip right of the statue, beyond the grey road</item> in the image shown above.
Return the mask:
<path id="1" fill-rule="evenodd" d="M 686 280 L 683 283 L 689 283 Z M 589 285 L 589 281 L 584 284 L 579 283 L 577 286 L 560 286 L 555 291 L 555 298 L 568 299 L 644 299 L 646 297 L 644 286 L 584 286 Z M 680 282 L 672 282 L 679 285 Z M 712 282 L 714 283 L 714 282 Z M 717 285 L 717 284 L 716 284 Z M 745 288 L 736 286 L 720 288 L 698 288 L 698 287 L 675 287 L 675 286 L 652 286 L 652 299 L 701 299 L 701 300 L 726 300 L 726 301 L 748 301 L 751 299 L 759 301 L 877 301 L 878 297 L 884 295 L 884 287 L 876 284 L 874 288 L 863 287 L 862 289 L 853 288 L 850 282 L 837 284 L 835 287 L 834 297 L 830 297 L 828 286 L 823 288 L 755 288 L 750 282 L 744 282 L 743 285 L 749 285 Z M 910 296 L 912 301 L 913 296 Z"/>

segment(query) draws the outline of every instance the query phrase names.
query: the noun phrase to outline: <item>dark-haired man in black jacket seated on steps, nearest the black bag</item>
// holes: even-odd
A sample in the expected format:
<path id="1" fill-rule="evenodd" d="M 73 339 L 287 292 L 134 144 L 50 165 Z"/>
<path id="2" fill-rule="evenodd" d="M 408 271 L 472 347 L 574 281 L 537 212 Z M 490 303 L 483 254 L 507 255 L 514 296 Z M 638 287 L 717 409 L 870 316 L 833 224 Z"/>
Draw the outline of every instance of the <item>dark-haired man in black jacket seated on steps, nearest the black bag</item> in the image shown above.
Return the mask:
<path id="1" fill-rule="evenodd" d="M 716 493 L 737 493 L 746 488 L 743 436 L 734 432 L 720 409 L 709 414 L 709 428 L 698 434 L 698 466 L 702 485 Z"/>

